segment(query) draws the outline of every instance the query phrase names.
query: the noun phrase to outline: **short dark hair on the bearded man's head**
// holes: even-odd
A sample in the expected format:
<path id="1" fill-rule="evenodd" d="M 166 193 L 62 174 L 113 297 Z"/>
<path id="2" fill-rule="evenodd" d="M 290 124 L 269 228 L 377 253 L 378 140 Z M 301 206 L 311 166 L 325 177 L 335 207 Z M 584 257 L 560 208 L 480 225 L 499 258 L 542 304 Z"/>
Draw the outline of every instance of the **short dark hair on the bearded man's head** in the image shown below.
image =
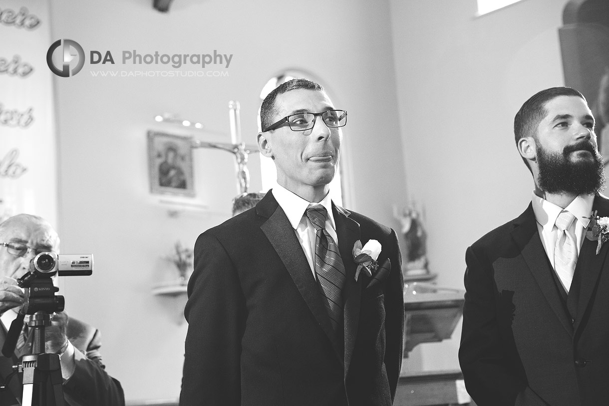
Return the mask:
<path id="1" fill-rule="evenodd" d="M 541 123 L 541 120 L 547 115 L 546 103 L 558 96 L 576 96 L 582 98 L 583 101 L 587 103 L 586 98 L 583 97 L 582 93 L 579 93 L 579 91 L 570 87 L 551 87 L 533 94 L 529 100 L 524 102 L 523 107 L 518 110 L 518 113 L 516 113 L 516 116 L 514 117 L 514 138 L 516 146 L 518 146 L 518 141 L 521 138 L 535 137 L 537 134 L 537 127 Z M 526 158 L 522 158 L 530 171 L 529 162 L 527 162 Z"/>

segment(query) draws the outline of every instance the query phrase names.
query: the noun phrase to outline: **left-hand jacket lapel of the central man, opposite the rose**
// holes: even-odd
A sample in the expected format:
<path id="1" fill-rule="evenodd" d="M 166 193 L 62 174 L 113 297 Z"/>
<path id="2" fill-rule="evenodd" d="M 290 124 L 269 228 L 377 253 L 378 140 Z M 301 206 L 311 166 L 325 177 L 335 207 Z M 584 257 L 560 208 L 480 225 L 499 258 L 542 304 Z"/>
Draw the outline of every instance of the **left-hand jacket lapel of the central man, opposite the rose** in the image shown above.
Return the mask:
<path id="1" fill-rule="evenodd" d="M 342 345 L 337 341 L 336 334 L 333 332 L 324 304 L 325 299 L 317 285 L 317 281 L 313 277 L 311 266 L 309 266 L 305 252 L 303 252 L 298 238 L 296 238 L 292 224 L 290 224 L 286 213 L 277 203 L 271 191 L 256 205 L 256 212 L 268 218 L 260 227 L 262 232 L 264 232 L 281 258 L 281 262 L 286 266 L 287 272 L 289 272 L 292 280 L 294 280 L 294 284 L 303 299 L 305 299 L 315 320 L 317 320 L 322 330 L 328 336 L 328 339 L 332 342 L 337 355 L 342 359 Z"/>

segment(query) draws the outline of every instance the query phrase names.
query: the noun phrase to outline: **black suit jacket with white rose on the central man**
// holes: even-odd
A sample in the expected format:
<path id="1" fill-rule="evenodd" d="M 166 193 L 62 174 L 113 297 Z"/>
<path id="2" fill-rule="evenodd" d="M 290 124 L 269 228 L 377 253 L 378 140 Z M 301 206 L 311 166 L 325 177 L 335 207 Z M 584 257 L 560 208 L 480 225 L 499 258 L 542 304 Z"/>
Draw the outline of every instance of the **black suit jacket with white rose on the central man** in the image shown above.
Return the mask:
<path id="1" fill-rule="evenodd" d="M 347 271 L 344 340 L 272 192 L 199 236 L 188 285 L 180 405 L 390 405 L 402 359 L 400 251 L 393 230 L 334 206 Z M 382 245 L 392 271 L 356 282 L 357 240 Z"/>

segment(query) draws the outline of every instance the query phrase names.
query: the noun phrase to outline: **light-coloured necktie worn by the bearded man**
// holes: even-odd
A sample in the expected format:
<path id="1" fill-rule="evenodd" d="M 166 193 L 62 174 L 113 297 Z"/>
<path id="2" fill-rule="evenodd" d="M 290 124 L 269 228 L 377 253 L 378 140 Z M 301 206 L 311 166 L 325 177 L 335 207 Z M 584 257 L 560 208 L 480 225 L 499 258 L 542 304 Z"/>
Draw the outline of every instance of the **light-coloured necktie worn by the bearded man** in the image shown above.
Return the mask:
<path id="1" fill-rule="evenodd" d="M 571 229 L 574 219 L 574 215 L 563 210 L 554 223 L 558 229 L 554 246 L 554 269 L 567 293 L 571 288 L 571 280 L 577 263 L 577 240 Z"/>

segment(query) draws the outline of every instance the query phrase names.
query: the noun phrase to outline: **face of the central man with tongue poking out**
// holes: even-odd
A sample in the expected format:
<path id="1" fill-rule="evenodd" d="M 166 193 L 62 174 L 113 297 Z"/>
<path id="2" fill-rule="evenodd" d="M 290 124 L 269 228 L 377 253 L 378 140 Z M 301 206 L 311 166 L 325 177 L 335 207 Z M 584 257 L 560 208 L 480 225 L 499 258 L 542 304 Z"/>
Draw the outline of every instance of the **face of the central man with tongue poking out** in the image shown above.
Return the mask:
<path id="1" fill-rule="evenodd" d="M 297 89 L 280 94 L 275 99 L 273 121 L 295 113 L 321 113 L 334 105 L 323 91 Z M 336 173 L 342 132 L 340 127 L 328 127 L 321 116 L 312 129 L 293 131 L 287 124 L 266 133 L 277 168 L 277 182 L 299 194 L 303 187 L 328 185 Z"/>

